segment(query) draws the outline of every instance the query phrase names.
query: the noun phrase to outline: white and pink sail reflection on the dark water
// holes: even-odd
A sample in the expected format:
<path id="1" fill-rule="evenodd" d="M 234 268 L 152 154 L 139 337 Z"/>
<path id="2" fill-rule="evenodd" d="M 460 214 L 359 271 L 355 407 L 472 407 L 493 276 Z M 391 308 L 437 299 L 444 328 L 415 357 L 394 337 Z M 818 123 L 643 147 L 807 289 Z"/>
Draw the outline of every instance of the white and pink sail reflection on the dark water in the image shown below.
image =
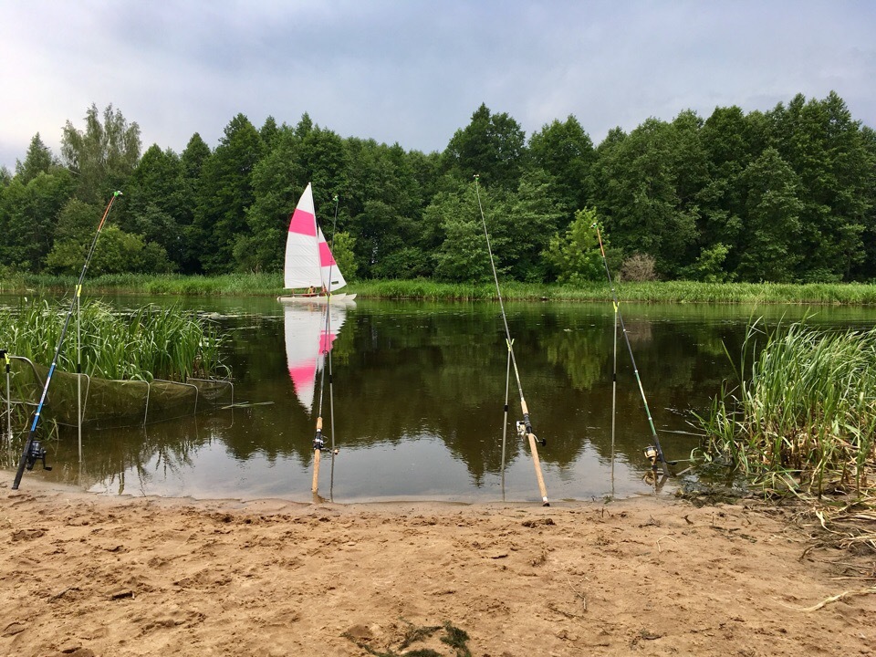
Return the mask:
<path id="1" fill-rule="evenodd" d="M 347 309 L 355 307 L 356 304 L 352 301 L 328 305 L 284 305 L 283 323 L 289 378 L 298 401 L 308 412 L 313 411 L 317 376 L 326 366 L 326 354 L 331 350 L 340 328 L 344 325 Z"/>

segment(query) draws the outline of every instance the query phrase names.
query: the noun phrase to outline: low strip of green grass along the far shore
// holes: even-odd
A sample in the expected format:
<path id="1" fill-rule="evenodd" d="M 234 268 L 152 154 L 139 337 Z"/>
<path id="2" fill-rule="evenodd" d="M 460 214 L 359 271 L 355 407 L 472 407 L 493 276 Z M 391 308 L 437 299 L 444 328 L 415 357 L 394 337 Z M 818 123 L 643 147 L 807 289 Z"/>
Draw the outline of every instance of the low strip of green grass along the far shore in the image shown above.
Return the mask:
<path id="1" fill-rule="evenodd" d="M 0 294 L 67 294 L 76 286 L 74 276 L 21 274 L 0 279 Z M 876 306 L 876 284 L 868 283 L 702 283 L 696 281 L 650 281 L 617 283 L 621 301 L 636 303 L 713 304 L 813 304 Z M 367 280 L 350 283 L 345 291 L 360 299 L 410 299 L 424 301 L 495 301 L 492 281 L 483 283 L 438 283 L 428 279 Z M 508 301 L 604 302 L 610 299 L 606 282 L 581 285 L 520 283 L 501 286 Z M 279 274 L 104 275 L 86 281 L 89 294 L 149 296 L 279 297 L 288 291 Z"/>

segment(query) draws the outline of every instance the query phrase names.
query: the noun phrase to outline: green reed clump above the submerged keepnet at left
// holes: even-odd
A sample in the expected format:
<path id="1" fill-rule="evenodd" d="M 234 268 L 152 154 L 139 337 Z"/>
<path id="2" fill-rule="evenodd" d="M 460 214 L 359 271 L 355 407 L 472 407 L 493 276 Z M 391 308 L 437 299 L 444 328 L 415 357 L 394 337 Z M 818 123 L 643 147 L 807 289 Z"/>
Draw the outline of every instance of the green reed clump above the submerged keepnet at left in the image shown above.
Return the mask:
<path id="1" fill-rule="evenodd" d="M 48 301 L 22 301 L 0 308 L 0 336 L 10 354 L 46 364 L 64 323 L 66 309 Z M 101 379 L 185 381 L 224 373 L 223 338 L 207 318 L 180 308 L 143 306 L 129 313 L 104 303 L 84 303 L 79 316 L 85 374 Z M 75 332 L 68 332 L 58 370 L 77 370 Z"/>

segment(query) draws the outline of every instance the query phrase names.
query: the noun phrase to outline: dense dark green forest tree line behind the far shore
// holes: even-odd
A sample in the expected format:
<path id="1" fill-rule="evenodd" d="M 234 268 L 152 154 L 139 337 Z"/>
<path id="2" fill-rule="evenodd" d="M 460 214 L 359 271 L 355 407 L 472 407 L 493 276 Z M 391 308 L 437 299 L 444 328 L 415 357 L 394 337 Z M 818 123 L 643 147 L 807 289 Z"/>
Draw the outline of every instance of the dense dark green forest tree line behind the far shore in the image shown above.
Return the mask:
<path id="1" fill-rule="evenodd" d="M 598 146 L 574 116 L 527 139 L 481 105 L 431 153 L 341 138 L 308 114 L 261 127 L 238 114 L 214 149 L 195 133 L 182 153 L 141 151 L 136 122 L 92 105 L 60 153 L 37 133 L 0 170 L 0 274 L 78 273 L 115 190 L 92 274 L 279 272 L 307 183 L 348 280 L 489 278 L 481 208 L 496 266 L 521 281 L 604 276 L 596 221 L 627 278 L 876 280 L 876 131 L 833 92 L 685 110 Z"/>

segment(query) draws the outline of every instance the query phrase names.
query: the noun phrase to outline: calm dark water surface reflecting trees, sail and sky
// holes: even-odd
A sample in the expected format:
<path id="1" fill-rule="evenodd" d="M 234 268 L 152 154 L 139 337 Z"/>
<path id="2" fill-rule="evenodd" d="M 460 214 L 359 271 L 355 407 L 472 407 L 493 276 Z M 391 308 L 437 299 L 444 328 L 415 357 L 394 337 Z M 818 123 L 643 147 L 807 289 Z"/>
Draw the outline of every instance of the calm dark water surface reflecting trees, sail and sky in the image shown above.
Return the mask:
<path id="1" fill-rule="evenodd" d="M 112 495 L 312 500 L 321 309 L 258 298 L 111 301 L 120 308 L 183 303 L 215 313 L 229 336 L 236 407 L 145 427 L 87 429 L 81 461 L 75 429 L 62 431 L 47 443 L 54 470 L 37 466 L 22 487 L 39 477 Z M 686 459 L 697 446 L 693 412 L 703 412 L 731 376 L 725 347 L 738 352 L 750 317 L 775 324 L 816 312 L 810 323 L 835 328 L 876 321 L 869 308 L 621 308 L 670 459 Z M 612 445 L 610 303 L 507 303 L 506 311 L 533 428 L 547 441 L 539 457 L 548 497 L 652 494 L 642 455 L 651 429 L 622 337 Z M 339 454 L 323 456 L 320 495 L 341 503 L 540 499 L 528 444 L 514 432 L 521 415 L 513 370 L 503 467 L 507 349 L 497 304 L 361 299 L 335 309 L 329 327 L 333 376 L 330 395 L 325 378 L 321 403 L 327 441 Z M 5 467 L 16 459 L 7 453 Z"/>

